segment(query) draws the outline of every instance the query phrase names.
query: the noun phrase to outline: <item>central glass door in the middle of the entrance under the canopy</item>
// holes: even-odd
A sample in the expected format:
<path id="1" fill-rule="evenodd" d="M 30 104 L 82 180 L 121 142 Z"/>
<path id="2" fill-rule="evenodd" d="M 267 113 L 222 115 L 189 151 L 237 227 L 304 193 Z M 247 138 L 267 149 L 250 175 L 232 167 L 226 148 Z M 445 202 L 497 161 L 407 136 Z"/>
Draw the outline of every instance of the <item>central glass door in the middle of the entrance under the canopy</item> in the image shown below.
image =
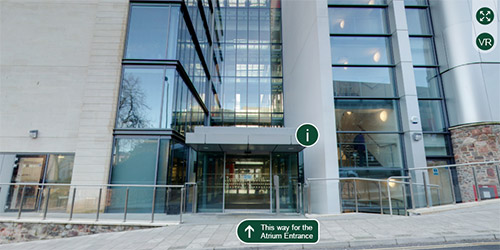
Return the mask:
<path id="1" fill-rule="evenodd" d="M 270 159 L 264 156 L 226 157 L 225 209 L 270 208 Z"/>

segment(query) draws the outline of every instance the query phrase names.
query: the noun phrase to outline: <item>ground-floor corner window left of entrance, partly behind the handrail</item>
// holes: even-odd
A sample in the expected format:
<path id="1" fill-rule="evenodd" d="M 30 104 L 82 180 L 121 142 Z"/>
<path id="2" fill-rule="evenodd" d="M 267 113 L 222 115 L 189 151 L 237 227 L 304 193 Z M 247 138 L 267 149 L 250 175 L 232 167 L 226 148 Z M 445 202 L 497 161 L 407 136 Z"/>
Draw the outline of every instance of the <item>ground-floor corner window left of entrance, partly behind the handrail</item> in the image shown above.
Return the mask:
<path id="1" fill-rule="evenodd" d="M 187 172 L 187 146 L 171 139 L 158 137 L 115 138 L 111 184 L 183 184 Z M 165 212 L 170 203 L 179 199 L 179 190 L 151 187 L 130 187 L 129 212 L 151 212 L 153 196 L 155 210 Z M 113 187 L 108 212 L 122 212 L 125 188 Z M 168 200 L 168 201 L 167 201 Z"/>

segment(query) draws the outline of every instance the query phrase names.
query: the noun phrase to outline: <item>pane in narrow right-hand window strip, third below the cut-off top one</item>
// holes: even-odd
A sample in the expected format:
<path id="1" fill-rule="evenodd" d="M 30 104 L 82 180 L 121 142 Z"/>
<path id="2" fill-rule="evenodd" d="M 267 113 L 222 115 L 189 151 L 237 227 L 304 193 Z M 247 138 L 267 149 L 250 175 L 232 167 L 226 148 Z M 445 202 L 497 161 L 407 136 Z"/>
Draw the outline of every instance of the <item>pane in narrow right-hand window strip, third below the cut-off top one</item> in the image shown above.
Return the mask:
<path id="1" fill-rule="evenodd" d="M 441 97 L 438 72 L 435 68 L 415 68 L 415 83 L 420 98 Z"/>

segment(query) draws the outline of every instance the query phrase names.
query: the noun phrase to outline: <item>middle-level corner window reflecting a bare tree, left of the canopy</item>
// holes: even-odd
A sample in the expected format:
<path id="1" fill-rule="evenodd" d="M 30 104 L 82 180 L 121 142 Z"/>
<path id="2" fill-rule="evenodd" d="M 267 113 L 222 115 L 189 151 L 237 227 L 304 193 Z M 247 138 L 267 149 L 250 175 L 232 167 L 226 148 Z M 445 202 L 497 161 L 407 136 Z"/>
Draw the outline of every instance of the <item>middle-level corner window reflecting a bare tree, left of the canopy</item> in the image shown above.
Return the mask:
<path id="1" fill-rule="evenodd" d="M 124 66 L 117 128 L 163 128 L 180 133 L 204 124 L 205 112 L 175 69 Z"/>

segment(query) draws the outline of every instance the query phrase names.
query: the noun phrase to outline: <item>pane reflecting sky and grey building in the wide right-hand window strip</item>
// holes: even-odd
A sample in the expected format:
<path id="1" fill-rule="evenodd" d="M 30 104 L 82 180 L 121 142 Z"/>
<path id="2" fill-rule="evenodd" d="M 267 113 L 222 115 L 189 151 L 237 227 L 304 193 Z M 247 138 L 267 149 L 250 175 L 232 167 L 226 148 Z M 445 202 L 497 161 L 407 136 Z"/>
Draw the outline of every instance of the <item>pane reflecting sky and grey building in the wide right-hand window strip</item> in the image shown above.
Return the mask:
<path id="1" fill-rule="evenodd" d="M 392 68 L 333 67 L 335 96 L 394 96 Z"/>

